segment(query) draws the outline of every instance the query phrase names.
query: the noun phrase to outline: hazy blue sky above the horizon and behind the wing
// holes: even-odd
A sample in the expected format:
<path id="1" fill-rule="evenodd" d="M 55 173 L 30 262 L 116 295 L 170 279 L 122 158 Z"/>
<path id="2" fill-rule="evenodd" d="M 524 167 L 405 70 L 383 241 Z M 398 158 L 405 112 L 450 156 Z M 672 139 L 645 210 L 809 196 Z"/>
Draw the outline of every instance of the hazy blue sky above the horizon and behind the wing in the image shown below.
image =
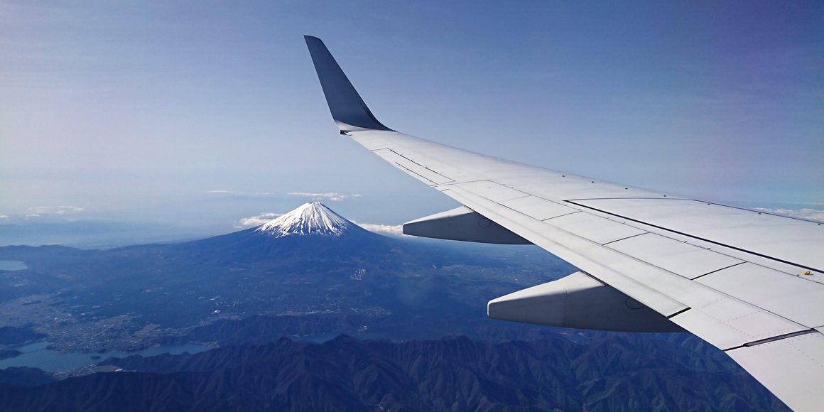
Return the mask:
<path id="1" fill-rule="evenodd" d="M 454 207 L 336 133 L 302 35 L 405 133 L 824 208 L 824 2 L 0 0 L 0 222 Z"/>

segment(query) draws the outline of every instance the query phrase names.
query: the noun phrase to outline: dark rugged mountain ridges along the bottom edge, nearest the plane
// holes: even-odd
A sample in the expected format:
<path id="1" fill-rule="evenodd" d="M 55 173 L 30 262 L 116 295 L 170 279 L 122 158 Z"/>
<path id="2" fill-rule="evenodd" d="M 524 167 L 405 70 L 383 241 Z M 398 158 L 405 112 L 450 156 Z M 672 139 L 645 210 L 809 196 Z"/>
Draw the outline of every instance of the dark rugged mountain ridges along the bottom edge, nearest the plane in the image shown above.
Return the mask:
<path id="1" fill-rule="evenodd" d="M 2 410 L 783 410 L 740 370 L 661 339 L 279 339 L 109 359 L 141 372 L 0 385 Z M 743 388 L 743 389 L 742 389 Z"/>

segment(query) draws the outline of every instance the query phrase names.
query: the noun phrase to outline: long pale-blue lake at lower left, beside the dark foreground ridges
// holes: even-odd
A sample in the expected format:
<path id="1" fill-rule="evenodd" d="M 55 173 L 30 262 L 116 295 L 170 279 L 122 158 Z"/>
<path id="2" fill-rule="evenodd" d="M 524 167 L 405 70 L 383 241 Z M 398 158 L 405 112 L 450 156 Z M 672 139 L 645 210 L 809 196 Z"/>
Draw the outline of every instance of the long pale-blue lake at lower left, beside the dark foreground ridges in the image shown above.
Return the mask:
<path id="1" fill-rule="evenodd" d="M 110 357 L 125 358 L 130 355 L 155 356 L 162 353 L 178 355 L 185 352 L 205 352 L 211 349 L 199 344 L 166 344 L 136 352 L 113 350 L 105 353 L 60 353 L 56 350 L 47 349 L 49 344 L 51 343 L 35 342 L 33 344 L 12 348 L 19 350 L 22 354 L 14 358 L 0 360 L 0 369 L 25 366 L 29 368 L 40 368 L 46 372 L 62 372 L 92 365 Z"/>

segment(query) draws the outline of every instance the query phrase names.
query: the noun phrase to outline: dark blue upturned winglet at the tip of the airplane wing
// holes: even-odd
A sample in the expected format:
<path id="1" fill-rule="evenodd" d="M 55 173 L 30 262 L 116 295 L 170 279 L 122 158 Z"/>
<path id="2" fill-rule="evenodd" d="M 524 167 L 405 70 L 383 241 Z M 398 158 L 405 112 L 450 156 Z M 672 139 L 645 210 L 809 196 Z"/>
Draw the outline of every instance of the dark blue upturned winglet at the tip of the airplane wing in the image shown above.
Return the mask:
<path id="1" fill-rule="evenodd" d="M 346 78 L 323 41 L 311 35 L 305 35 L 303 38 L 307 40 L 309 54 L 312 63 L 315 63 L 317 77 L 321 80 L 326 103 L 329 104 L 332 118 L 338 124 L 340 133 L 355 129 L 391 130 L 375 119 L 375 115 L 372 115 L 372 111 L 363 103 L 358 91 Z"/>

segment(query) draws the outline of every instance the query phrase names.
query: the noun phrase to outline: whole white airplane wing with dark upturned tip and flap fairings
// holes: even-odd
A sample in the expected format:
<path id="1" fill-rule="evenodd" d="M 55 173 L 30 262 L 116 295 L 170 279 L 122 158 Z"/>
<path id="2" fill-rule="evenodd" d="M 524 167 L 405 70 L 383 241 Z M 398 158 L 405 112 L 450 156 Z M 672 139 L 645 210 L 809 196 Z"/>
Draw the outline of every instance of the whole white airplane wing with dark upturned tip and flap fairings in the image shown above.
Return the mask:
<path id="1" fill-rule="evenodd" d="M 580 272 L 489 302 L 490 317 L 599 330 L 688 330 L 794 410 L 824 400 L 822 223 L 508 162 L 381 124 L 306 37 L 339 132 L 464 206 L 417 236 L 532 243 Z"/>

